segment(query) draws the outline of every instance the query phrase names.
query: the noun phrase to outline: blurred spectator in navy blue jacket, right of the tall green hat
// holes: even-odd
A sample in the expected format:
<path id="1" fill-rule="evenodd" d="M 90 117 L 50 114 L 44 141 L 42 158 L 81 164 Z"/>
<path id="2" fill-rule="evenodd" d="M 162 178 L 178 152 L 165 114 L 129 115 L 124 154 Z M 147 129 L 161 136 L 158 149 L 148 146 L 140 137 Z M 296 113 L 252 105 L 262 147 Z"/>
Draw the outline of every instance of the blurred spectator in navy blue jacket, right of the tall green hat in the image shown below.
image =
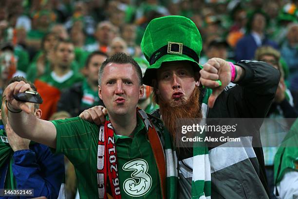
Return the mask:
<path id="1" fill-rule="evenodd" d="M 235 60 L 252 60 L 255 51 L 262 45 L 278 48 L 277 44 L 266 37 L 265 28 L 267 17 L 262 11 L 255 11 L 251 14 L 248 23 L 248 34 L 238 41 L 235 49 Z"/>

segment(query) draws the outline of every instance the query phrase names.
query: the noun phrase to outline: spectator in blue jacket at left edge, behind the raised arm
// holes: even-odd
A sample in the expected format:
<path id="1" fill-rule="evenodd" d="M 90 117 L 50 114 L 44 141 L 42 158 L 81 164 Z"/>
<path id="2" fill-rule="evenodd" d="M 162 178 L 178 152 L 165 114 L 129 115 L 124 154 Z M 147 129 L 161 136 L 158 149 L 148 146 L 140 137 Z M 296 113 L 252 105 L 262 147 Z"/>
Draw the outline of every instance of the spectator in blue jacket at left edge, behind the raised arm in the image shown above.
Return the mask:
<path id="1" fill-rule="evenodd" d="M 31 84 L 36 91 L 35 86 L 24 78 L 15 77 L 8 84 L 21 80 Z M 64 178 L 63 156 L 53 155 L 49 147 L 23 139 L 12 130 L 7 121 L 8 107 L 4 96 L 5 93 L 0 110 L 0 119 L 5 126 L 0 129 L 0 189 L 34 189 L 34 197 L 58 198 L 59 190 L 61 195 L 64 192 L 64 184 L 61 185 Z M 35 117 L 41 117 L 38 104 L 27 105 Z"/>

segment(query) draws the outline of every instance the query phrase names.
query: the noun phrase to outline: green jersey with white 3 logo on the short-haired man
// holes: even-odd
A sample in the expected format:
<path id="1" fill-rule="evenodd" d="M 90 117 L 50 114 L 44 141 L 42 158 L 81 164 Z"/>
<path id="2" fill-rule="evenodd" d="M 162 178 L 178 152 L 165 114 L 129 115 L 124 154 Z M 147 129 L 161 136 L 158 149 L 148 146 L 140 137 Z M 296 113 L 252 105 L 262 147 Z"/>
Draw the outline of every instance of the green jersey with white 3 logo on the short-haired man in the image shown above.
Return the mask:
<path id="1" fill-rule="evenodd" d="M 98 198 L 98 127 L 78 117 L 52 122 L 57 132 L 56 152 L 63 153 L 74 164 L 80 198 Z M 139 117 L 132 135 L 133 138 L 114 134 L 121 197 L 160 199 L 158 169 L 145 125 Z"/>

